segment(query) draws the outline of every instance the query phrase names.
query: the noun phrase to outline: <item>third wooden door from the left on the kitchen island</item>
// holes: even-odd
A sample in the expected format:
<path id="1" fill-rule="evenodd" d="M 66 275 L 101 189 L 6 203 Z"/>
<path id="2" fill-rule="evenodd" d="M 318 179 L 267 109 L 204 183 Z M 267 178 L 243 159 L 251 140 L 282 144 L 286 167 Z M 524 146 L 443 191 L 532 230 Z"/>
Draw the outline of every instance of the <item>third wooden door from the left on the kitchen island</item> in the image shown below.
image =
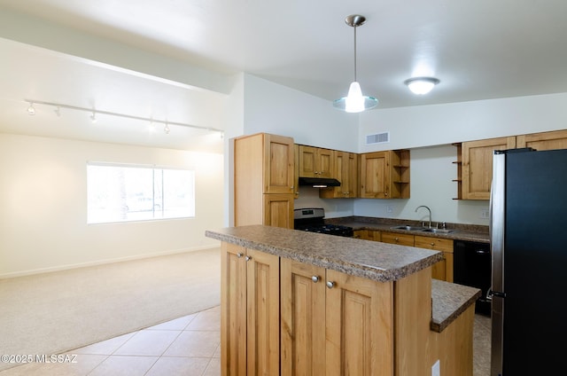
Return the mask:
<path id="1" fill-rule="evenodd" d="M 325 270 L 281 260 L 282 375 L 325 374 Z"/>

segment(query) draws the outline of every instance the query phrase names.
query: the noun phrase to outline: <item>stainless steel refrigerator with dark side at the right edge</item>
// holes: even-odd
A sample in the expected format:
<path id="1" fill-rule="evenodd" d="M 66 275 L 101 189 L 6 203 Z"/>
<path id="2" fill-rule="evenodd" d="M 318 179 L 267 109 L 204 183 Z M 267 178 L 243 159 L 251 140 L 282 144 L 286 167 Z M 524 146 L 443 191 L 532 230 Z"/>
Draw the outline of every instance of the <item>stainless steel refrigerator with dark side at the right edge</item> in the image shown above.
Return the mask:
<path id="1" fill-rule="evenodd" d="M 490 217 L 491 376 L 565 374 L 567 150 L 494 152 Z"/>

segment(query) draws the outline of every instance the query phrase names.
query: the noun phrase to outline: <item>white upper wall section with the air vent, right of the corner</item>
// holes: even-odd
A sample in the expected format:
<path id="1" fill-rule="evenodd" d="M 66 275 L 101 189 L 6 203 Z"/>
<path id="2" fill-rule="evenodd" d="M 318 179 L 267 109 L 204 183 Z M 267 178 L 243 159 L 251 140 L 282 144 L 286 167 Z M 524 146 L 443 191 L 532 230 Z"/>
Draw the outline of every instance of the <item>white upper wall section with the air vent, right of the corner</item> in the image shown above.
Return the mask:
<path id="1" fill-rule="evenodd" d="M 567 128 L 567 93 L 447 105 L 385 108 L 360 115 L 358 153 L 403 149 Z M 365 145 L 369 134 L 391 142 Z"/>

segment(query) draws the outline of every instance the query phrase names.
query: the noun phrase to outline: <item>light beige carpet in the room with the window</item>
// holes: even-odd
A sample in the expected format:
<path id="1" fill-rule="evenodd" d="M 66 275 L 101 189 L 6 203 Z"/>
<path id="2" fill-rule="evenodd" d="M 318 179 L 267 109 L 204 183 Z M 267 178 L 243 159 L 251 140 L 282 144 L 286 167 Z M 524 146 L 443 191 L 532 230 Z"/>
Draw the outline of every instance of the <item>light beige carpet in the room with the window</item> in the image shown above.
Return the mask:
<path id="1" fill-rule="evenodd" d="M 0 279 L 0 354 L 58 354 L 220 303 L 220 248 Z"/>

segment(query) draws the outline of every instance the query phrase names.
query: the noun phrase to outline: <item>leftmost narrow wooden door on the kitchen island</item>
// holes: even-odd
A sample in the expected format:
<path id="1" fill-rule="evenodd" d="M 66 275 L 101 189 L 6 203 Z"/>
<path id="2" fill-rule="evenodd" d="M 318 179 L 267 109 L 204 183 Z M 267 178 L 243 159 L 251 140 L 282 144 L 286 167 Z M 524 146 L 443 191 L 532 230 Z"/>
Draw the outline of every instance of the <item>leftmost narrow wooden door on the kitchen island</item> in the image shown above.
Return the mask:
<path id="1" fill-rule="evenodd" d="M 244 247 L 221 243 L 221 374 L 246 374 L 246 262 Z"/>

